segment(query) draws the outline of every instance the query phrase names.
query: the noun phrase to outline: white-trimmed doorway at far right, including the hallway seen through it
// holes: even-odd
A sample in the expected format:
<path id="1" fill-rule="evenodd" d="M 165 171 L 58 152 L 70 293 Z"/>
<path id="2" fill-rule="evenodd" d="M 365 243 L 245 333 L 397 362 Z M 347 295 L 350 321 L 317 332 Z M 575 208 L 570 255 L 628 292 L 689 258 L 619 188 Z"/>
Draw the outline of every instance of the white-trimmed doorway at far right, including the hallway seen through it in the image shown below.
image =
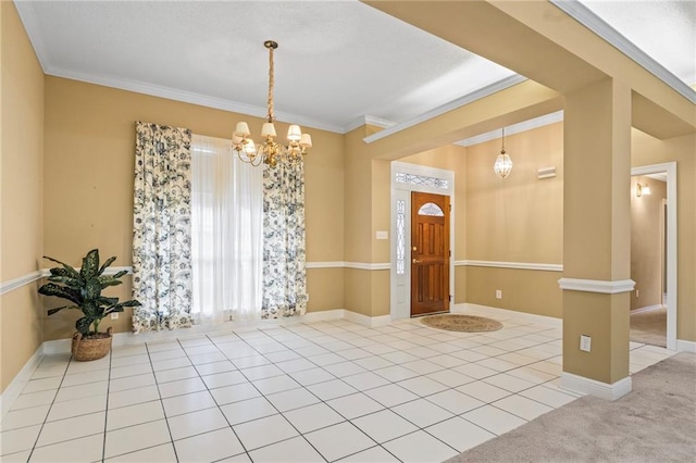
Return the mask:
<path id="1" fill-rule="evenodd" d="M 676 350 L 676 163 L 631 175 L 630 340 Z"/>

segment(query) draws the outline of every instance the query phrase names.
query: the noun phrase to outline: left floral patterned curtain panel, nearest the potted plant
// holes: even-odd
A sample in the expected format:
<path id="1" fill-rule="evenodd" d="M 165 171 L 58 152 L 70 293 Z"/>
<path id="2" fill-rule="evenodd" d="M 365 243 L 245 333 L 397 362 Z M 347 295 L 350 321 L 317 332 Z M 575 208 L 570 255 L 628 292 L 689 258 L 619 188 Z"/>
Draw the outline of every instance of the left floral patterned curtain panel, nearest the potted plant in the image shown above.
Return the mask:
<path id="1" fill-rule="evenodd" d="M 135 333 L 191 325 L 191 133 L 136 123 Z"/>

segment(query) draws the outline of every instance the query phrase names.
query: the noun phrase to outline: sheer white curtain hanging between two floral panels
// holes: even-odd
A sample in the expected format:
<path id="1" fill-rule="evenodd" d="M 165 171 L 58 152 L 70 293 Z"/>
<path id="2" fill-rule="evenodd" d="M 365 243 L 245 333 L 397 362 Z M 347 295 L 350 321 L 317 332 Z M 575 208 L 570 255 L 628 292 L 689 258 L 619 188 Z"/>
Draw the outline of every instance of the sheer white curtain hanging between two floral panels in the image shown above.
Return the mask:
<path id="1" fill-rule="evenodd" d="M 197 323 L 261 316 L 263 168 L 229 140 L 191 138 L 192 306 Z"/>

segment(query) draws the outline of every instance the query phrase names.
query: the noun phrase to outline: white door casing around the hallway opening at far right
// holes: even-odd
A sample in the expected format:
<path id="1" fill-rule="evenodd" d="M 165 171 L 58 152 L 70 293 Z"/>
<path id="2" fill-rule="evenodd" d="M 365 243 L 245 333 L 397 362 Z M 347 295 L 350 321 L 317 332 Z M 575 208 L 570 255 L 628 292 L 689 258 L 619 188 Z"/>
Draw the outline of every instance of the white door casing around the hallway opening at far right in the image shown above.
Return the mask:
<path id="1" fill-rule="evenodd" d="M 631 168 L 631 176 L 667 173 L 667 348 L 675 351 L 676 342 L 676 281 L 678 281 L 678 221 L 676 162 L 642 165 Z"/>

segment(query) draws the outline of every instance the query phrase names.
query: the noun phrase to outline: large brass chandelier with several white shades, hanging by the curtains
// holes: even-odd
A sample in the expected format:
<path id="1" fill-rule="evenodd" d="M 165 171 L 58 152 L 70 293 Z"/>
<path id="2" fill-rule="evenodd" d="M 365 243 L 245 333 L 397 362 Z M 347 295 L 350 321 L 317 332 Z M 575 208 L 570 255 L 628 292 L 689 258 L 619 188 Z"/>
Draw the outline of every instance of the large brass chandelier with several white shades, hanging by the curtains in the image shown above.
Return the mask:
<path id="1" fill-rule="evenodd" d="M 312 148 L 312 137 L 309 134 L 302 134 L 299 125 L 293 124 L 287 129 L 287 145 L 278 143 L 274 140 L 276 137 L 275 115 L 273 114 L 273 86 L 275 84 L 273 77 L 273 50 L 278 48 L 277 42 L 266 40 L 263 46 L 269 49 L 269 113 L 266 122 L 261 127 L 261 138 L 263 141 L 256 145 L 250 138 L 249 125 L 246 122 L 238 122 L 235 132 L 232 134 L 232 147 L 237 152 L 239 159 L 254 166 L 266 163 L 274 167 L 278 159 L 285 158 L 289 162 L 298 162 Z"/>

